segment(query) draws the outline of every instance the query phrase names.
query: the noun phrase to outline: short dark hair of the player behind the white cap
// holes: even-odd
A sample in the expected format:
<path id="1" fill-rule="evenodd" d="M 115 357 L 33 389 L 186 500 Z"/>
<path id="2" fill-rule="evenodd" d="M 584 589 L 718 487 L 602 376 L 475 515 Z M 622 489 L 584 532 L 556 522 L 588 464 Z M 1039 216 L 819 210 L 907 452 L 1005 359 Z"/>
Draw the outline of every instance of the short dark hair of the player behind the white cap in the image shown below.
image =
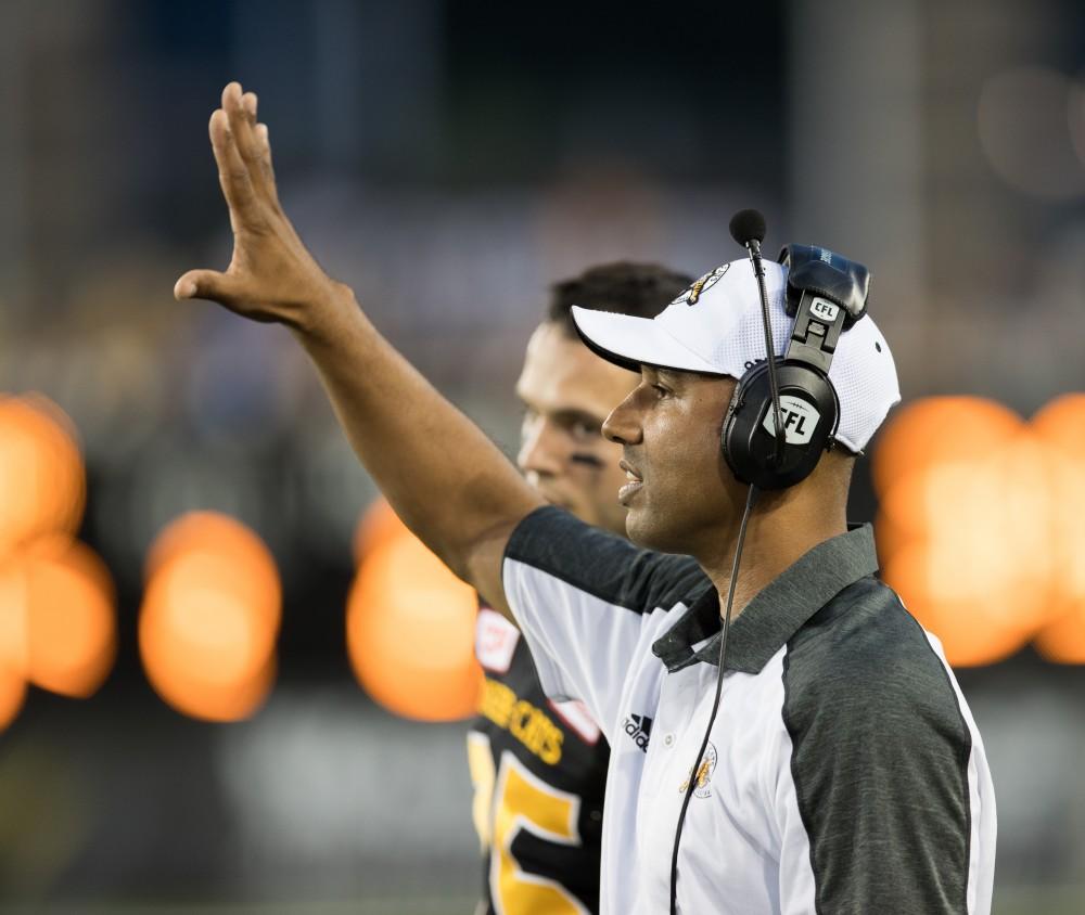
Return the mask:
<path id="1" fill-rule="evenodd" d="M 654 318 L 692 282 L 692 276 L 658 263 L 628 260 L 601 263 L 550 287 L 546 320 L 559 324 L 566 334 L 576 337 L 571 311 L 574 305 L 637 318 Z"/>

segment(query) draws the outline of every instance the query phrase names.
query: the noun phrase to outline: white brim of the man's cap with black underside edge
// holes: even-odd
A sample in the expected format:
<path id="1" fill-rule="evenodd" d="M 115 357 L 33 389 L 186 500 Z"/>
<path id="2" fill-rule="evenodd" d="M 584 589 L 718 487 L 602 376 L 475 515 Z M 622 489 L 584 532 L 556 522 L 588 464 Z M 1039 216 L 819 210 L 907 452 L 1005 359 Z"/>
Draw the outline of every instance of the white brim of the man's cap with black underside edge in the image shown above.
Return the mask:
<path id="1" fill-rule="evenodd" d="M 658 365 L 680 372 L 723 374 L 711 362 L 682 346 L 658 321 L 573 306 L 573 323 L 585 346 L 608 362 L 639 372 Z"/>

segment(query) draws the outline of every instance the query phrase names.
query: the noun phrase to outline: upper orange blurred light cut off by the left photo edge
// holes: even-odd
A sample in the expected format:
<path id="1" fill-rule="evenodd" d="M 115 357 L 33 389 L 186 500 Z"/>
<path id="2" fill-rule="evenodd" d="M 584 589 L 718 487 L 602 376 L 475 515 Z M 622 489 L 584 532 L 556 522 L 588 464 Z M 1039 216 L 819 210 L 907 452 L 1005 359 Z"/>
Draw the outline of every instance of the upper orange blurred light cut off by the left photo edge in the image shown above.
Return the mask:
<path id="1" fill-rule="evenodd" d="M 48 533 L 74 533 L 86 474 L 71 420 L 37 396 L 0 397 L 0 555 Z"/>

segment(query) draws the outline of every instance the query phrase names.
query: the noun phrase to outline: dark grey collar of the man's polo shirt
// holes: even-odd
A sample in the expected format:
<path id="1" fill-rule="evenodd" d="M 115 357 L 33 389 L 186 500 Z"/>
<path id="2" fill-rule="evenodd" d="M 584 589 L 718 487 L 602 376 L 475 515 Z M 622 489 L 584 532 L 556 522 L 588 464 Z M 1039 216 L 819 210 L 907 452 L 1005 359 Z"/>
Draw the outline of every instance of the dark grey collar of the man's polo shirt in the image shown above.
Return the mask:
<path id="1" fill-rule="evenodd" d="M 757 673 L 788 640 L 847 585 L 878 570 L 873 531 L 863 525 L 822 541 L 769 582 L 731 620 L 727 669 Z M 655 641 L 672 673 L 698 661 L 719 663 L 719 595 L 710 585 Z"/>

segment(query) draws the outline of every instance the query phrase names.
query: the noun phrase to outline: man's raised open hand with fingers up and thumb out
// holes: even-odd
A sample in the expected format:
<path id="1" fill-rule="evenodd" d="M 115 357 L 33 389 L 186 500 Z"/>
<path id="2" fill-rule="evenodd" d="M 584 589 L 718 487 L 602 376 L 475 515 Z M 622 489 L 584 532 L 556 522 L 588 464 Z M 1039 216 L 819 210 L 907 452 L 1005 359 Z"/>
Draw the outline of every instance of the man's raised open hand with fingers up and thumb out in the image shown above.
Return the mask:
<path id="1" fill-rule="evenodd" d="M 256 93 L 231 82 L 222 90 L 222 107 L 210 116 L 210 144 L 233 230 L 230 266 L 225 273 L 188 271 L 174 296 L 210 299 L 255 321 L 305 327 L 353 296 L 324 273 L 282 211 L 268 129 L 257 123 L 256 104 Z"/>

